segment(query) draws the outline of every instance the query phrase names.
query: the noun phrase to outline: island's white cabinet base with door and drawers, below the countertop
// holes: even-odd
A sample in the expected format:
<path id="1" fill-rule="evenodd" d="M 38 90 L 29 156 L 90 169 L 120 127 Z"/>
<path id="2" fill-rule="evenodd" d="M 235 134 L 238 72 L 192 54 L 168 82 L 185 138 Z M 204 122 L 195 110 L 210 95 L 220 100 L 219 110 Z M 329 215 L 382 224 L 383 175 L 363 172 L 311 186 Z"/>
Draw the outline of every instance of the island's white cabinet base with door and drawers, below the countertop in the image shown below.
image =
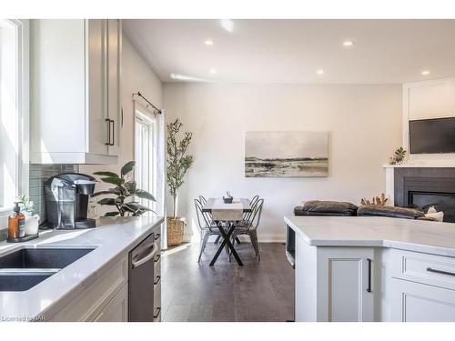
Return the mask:
<path id="1" fill-rule="evenodd" d="M 297 322 L 455 322 L 455 257 L 296 236 L 295 266 Z"/>

